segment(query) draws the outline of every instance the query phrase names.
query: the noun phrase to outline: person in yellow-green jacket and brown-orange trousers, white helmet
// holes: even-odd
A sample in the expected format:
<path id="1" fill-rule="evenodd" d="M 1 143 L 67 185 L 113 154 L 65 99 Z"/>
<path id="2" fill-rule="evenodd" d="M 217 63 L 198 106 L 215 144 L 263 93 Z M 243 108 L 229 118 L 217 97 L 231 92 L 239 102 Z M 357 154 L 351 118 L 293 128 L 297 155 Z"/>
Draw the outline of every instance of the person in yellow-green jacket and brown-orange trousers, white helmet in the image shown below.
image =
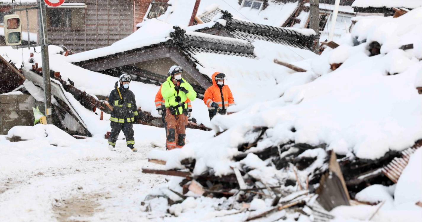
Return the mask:
<path id="1" fill-rule="evenodd" d="M 170 67 L 167 81 L 161 87 L 161 94 L 165 100 L 168 150 L 182 148 L 185 145 L 187 115 L 189 115 L 186 100 L 193 101 L 196 98 L 195 90 L 182 78 L 182 72 L 180 66 Z"/>

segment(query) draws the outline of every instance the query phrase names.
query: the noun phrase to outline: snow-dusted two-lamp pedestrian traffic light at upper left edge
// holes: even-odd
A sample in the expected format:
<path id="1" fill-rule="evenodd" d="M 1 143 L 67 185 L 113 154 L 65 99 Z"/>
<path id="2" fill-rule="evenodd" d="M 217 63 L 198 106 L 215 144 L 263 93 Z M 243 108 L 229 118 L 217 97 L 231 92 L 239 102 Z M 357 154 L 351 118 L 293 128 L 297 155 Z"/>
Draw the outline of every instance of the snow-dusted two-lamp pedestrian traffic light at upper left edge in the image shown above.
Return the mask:
<path id="1" fill-rule="evenodd" d="M 22 28 L 19 15 L 5 15 L 3 21 L 6 46 L 18 46 L 22 44 Z"/>

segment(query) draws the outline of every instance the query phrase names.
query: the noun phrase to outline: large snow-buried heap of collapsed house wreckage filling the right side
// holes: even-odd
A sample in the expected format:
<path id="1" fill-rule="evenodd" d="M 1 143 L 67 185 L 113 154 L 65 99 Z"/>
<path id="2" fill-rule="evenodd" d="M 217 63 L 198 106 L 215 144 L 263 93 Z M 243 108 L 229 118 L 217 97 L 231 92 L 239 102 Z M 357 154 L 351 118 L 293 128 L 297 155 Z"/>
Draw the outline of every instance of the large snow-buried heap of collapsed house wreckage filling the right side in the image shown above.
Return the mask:
<path id="1" fill-rule="evenodd" d="M 285 80 L 291 85 L 279 88 L 281 97 L 214 117 L 218 133 L 209 141 L 149 153 L 150 162 L 164 167 L 144 168 L 144 173 L 175 177 L 152 191 L 143 208 L 153 215 L 183 216 L 208 203 L 207 210 L 224 211 L 221 217 L 238 221 L 328 221 L 335 207 L 378 204 L 362 218 L 368 220 L 395 199 L 392 194 L 390 200 L 379 199 L 366 188 L 390 187 L 402 201 L 403 184 L 419 177 L 402 172 L 422 146 L 421 131 L 414 125 L 422 121 L 421 98 L 414 89 L 420 92 L 422 48 L 401 46 L 418 41 L 420 12 L 417 8 L 398 18 L 359 20 L 351 37 L 359 45 L 341 43 L 311 59 L 307 72 Z M 381 22 L 394 28 L 379 27 Z M 368 51 L 373 41 L 381 46 L 377 57 Z M 343 65 L 333 71 L 333 63 Z M 315 74 L 316 79 L 297 82 Z M 400 186 L 392 186 L 396 183 Z M 415 195 L 406 193 L 407 198 Z M 412 209 L 407 212 L 420 218 L 417 200 L 410 199 L 415 200 L 411 205 L 400 208 L 398 202 L 398 208 L 385 208 L 384 218 L 396 209 L 400 217 L 400 210 Z M 362 208 L 348 209 L 359 214 Z"/>

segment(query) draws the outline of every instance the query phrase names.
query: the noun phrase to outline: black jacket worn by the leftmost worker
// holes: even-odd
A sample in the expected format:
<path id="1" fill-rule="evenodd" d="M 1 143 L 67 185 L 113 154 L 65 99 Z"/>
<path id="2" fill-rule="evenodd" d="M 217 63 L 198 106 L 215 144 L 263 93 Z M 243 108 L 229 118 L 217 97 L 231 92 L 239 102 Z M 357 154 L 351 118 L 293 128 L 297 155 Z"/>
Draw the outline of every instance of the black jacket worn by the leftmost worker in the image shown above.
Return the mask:
<path id="1" fill-rule="evenodd" d="M 111 91 L 108 97 L 108 103 L 113 106 L 111 117 L 114 118 L 132 118 L 138 115 L 138 107 L 136 106 L 135 95 L 129 88 L 119 87 L 122 99 L 120 99 L 117 89 Z"/>

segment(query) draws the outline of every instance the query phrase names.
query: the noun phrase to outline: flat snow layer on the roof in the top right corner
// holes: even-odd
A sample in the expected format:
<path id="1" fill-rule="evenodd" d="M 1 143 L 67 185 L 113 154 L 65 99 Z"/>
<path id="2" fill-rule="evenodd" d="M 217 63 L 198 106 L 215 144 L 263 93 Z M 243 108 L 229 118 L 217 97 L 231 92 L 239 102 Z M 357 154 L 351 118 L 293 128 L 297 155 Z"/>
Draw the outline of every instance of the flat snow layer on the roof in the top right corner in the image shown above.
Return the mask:
<path id="1" fill-rule="evenodd" d="M 355 0 L 352 4 L 352 7 L 359 8 L 418 8 L 421 6 L 421 0 Z"/>

